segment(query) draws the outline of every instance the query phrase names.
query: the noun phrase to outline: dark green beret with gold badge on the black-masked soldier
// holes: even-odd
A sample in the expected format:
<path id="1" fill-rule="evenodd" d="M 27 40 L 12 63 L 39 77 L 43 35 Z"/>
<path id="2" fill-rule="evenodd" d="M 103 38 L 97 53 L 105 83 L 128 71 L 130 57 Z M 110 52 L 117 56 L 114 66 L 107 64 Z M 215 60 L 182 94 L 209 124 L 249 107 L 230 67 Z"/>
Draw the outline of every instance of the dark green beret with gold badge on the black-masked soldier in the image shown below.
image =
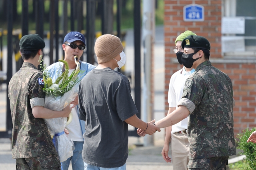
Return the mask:
<path id="1" fill-rule="evenodd" d="M 210 42 L 201 36 L 187 36 L 181 43 L 182 48 L 201 48 L 210 51 Z"/>

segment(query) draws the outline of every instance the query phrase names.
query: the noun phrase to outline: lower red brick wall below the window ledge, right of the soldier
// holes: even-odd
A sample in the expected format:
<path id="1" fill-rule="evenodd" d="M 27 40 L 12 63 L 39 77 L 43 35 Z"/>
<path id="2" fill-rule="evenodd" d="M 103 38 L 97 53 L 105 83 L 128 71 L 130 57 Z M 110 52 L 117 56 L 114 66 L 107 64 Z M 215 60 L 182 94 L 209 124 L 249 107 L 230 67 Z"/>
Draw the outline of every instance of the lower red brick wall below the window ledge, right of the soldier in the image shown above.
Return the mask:
<path id="1" fill-rule="evenodd" d="M 233 83 L 234 99 L 234 133 L 245 128 L 256 127 L 256 81 L 255 64 L 213 64 L 227 73 Z"/>

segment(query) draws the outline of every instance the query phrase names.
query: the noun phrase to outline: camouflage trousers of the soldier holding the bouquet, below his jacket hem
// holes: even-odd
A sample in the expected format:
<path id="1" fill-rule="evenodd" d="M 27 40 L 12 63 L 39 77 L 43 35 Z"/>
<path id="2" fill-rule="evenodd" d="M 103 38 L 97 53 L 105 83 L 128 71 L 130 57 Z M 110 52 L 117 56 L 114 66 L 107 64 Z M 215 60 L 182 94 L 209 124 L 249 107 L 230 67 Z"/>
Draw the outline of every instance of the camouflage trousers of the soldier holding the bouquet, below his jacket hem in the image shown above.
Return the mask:
<path id="1" fill-rule="evenodd" d="M 16 170 L 60 170 L 60 167 L 57 155 L 16 159 Z"/>

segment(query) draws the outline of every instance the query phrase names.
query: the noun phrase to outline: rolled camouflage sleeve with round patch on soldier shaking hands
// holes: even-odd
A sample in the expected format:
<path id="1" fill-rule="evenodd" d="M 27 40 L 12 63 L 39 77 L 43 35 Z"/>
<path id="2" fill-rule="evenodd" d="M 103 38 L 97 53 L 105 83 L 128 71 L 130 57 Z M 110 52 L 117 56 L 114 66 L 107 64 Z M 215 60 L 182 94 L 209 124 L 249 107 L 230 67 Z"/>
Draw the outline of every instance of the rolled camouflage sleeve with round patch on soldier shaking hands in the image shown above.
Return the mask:
<path id="1" fill-rule="evenodd" d="M 185 106 L 191 114 L 202 101 L 206 89 L 206 83 L 201 77 L 194 75 L 194 77 L 188 78 L 184 85 L 182 99 L 178 102 L 178 107 Z"/>

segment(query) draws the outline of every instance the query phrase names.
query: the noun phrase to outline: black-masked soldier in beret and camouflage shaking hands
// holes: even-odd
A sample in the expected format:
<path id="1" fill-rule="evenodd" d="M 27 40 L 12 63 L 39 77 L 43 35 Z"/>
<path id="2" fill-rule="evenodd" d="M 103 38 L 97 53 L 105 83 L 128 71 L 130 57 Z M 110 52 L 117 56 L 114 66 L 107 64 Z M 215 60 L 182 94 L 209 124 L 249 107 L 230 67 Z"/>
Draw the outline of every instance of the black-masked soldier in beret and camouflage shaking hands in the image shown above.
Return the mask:
<path id="1" fill-rule="evenodd" d="M 185 82 L 178 109 L 157 121 L 156 126 L 175 125 L 189 115 L 189 170 L 224 170 L 228 157 L 236 154 L 232 82 L 211 65 L 206 38 L 188 36 L 182 41 L 182 48 L 182 63 L 195 72 Z M 138 134 L 144 135 L 141 130 Z"/>

